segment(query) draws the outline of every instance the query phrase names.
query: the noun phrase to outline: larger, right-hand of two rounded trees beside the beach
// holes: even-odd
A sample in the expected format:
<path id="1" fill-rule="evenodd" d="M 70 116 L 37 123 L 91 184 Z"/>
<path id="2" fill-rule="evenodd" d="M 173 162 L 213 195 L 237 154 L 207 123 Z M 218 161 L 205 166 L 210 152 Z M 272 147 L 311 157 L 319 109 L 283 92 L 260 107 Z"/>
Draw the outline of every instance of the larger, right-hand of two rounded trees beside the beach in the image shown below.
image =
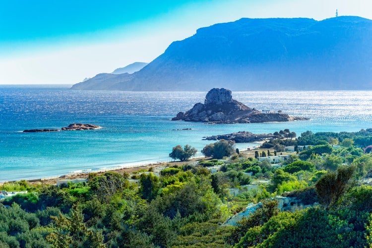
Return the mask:
<path id="1" fill-rule="evenodd" d="M 206 145 L 201 153 L 205 156 L 216 159 L 222 159 L 225 156 L 231 156 L 235 152 L 235 142 L 232 140 L 221 139 L 213 144 Z"/>

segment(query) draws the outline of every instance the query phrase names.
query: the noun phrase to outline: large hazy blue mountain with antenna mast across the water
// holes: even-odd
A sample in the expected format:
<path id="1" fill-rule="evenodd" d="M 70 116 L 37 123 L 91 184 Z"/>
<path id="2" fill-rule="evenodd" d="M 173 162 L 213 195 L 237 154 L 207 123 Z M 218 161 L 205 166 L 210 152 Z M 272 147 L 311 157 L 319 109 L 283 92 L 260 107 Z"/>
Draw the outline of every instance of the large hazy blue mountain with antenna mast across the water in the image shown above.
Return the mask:
<path id="1" fill-rule="evenodd" d="M 371 58 L 369 19 L 243 18 L 200 28 L 130 77 L 101 84 L 139 91 L 372 89 Z M 102 88 L 88 83 L 80 84 Z"/>

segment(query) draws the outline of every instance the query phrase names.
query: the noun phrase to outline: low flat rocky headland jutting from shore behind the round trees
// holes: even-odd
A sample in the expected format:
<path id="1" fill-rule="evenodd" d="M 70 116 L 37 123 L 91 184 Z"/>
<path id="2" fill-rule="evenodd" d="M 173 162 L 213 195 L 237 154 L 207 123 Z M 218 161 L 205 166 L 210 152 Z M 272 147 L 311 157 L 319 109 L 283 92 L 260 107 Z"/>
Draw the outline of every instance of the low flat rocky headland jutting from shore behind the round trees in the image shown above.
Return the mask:
<path id="1" fill-rule="evenodd" d="M 276 137 L 272 133 L 252 133 L 248 131 L 240 131 L 240 132 L 234 132 L 229 134 L 222 134 L 222 135 L 213 135 L 213 136 L 207 136 L 203 137 L 204 140 L 234 140 L 236 143 L 251 143 L 251 142 L 258 142 L 258 141 L 264 141 L 266 139 L 274 138 Z"/>

